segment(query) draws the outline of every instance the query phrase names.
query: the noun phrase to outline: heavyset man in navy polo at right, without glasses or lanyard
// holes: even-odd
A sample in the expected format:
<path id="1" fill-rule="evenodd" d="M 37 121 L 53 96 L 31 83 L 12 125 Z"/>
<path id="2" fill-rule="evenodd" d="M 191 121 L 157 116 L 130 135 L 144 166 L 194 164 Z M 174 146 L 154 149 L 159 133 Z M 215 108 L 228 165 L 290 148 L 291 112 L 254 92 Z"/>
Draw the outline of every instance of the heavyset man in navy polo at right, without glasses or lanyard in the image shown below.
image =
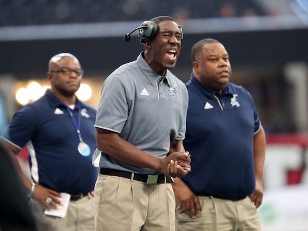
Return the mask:
<path id="1" fill-rule="evenodd" d="M 178 230 L 261 230 L 265 133 L 251 94 L 229 82 L 231 66 L 216 40 L 191 50 L 186 135 L 190 174 L 172 184 Z"/>

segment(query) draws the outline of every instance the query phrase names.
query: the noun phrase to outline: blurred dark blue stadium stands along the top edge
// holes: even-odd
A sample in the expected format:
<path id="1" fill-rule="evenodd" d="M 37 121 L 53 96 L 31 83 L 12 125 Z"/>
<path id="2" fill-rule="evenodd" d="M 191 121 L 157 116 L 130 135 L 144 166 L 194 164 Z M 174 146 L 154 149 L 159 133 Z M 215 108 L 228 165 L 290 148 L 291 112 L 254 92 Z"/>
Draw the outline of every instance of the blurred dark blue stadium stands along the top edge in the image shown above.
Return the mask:
<path id="1" fill-rule="evenodd" d="M 262 16 L 257 0 L 0 0 L 0 26 Z"/>

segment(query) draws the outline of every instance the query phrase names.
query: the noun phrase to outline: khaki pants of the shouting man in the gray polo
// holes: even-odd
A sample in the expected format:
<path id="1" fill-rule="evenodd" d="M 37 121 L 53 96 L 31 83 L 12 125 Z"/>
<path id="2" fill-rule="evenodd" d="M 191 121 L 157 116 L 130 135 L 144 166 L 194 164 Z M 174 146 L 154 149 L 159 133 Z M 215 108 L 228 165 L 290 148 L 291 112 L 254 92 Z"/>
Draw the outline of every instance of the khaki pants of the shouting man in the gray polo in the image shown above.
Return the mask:
<path id="1" fill-rule="evenodd" d="M 94 191 L 97 231 L 175 230 L 175 197 L 170 183 L 145 184 L 99 174 Z"/>

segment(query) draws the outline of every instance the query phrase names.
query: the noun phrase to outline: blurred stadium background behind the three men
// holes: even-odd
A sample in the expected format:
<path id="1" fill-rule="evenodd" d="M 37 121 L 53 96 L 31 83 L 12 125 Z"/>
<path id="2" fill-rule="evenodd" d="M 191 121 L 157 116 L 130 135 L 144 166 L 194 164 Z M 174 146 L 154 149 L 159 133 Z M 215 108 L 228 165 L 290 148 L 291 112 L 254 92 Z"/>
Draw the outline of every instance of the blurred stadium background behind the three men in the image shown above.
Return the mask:
<path id="1" fill-rule="evenodd" d="M 48 61 L 60 52 L 79 58 L 92 89 L 87 102 L 97 107 L 106 76 L 143 50 L 136 32 L 129 43 L 124 35 L 172 16 L 184 32 L 172 72 L 187 82 L 191 46 L 215 38 L 229 52 L 231 81 L 256 101 L 268 146 L 263 230 L 308 230 L 307 13 L 307 0 L 0 0 L 0 116 L 9 122 L 22 106 L 18 88 L 47 84 Z"/>

